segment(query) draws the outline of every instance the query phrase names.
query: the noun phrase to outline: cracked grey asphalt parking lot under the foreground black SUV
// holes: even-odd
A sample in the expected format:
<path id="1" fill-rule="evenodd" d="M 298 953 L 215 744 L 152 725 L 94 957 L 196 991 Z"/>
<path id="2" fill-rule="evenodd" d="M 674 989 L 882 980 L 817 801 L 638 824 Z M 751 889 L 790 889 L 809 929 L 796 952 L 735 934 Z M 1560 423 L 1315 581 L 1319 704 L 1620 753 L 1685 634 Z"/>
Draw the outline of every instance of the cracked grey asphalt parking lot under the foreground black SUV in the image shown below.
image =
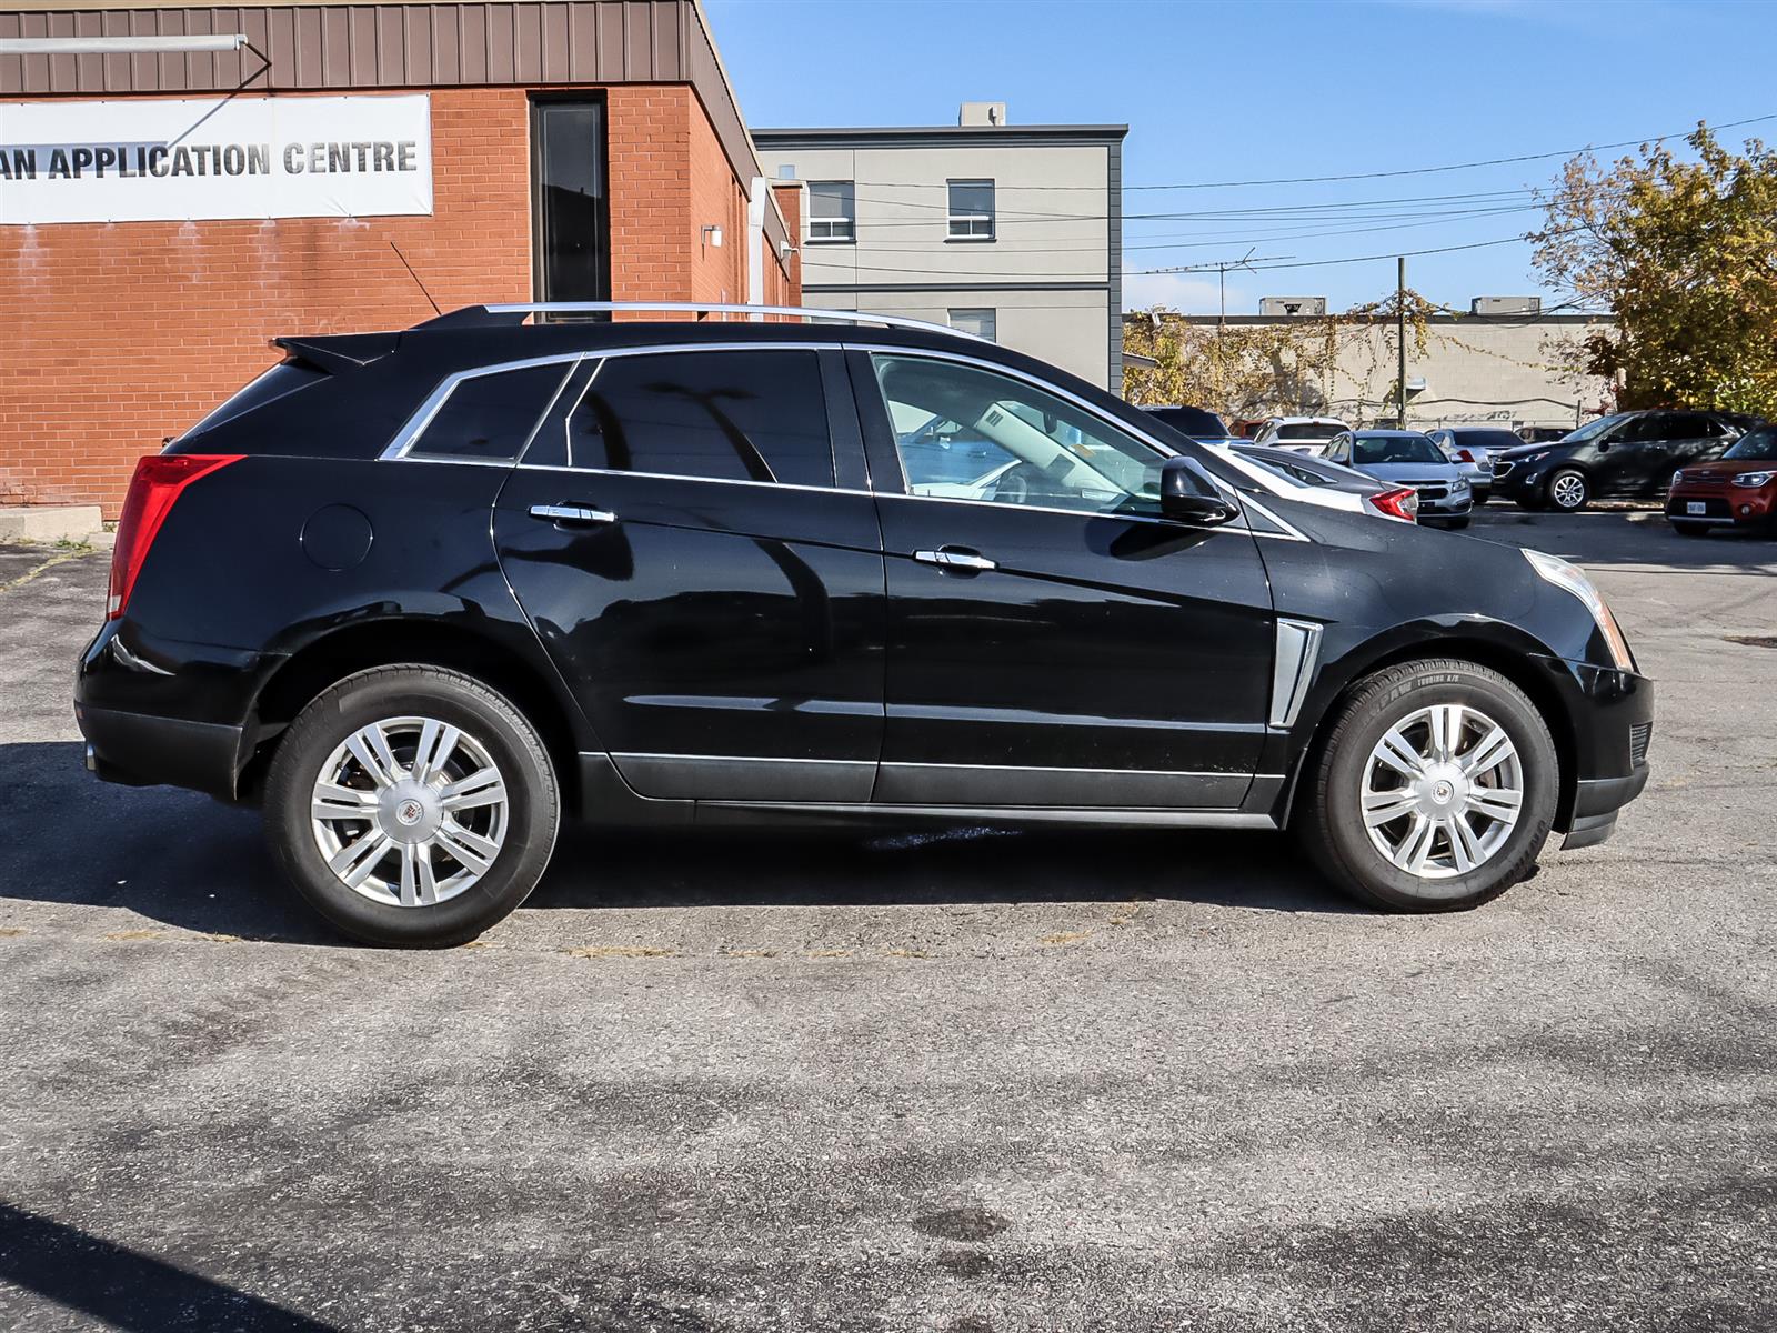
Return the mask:
<path id="1" fill-rule="evenodd" d="M 1477 531 L 1660 682 L 1615 841 L 1478 912 L 1263 835 L 576 837 L 421 954 L 92 782 L 107 556 L 0 551 L 0 1328 L 1777 1326 L 1777 542 Z"/>

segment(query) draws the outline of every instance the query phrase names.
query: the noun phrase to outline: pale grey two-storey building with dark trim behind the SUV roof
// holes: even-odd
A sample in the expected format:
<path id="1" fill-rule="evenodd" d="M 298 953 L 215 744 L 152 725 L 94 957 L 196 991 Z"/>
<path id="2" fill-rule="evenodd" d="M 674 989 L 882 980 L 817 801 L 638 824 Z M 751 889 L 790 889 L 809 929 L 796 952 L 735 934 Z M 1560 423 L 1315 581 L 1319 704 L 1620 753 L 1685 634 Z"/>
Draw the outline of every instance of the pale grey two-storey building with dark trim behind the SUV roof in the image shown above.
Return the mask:
<path id="1" fill-rule="evenodd" d="M 949 323 L 1123 386 L 1127 124 L 960 123 L 755 130 L 766 172 L 803 183 L 809 306 Z"/>

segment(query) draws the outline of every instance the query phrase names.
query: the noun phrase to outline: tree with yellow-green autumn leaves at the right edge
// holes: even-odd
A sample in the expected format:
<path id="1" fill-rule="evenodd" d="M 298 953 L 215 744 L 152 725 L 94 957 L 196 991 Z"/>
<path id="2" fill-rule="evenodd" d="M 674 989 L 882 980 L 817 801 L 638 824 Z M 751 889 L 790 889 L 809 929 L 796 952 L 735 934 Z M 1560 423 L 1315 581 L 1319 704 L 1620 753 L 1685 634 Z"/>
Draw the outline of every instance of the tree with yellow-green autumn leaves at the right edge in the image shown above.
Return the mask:
<path id="1" fill-rule="evenodd" d="M 1532 233 L 1535 265 L 1573 304 L 1605 306 L 1574 368 L 1619 382 L 1619 407 L 1777 416 L 1777 155 L 1722 148 L 1708 126 L 1603 169 L 1573 158 Z"/>

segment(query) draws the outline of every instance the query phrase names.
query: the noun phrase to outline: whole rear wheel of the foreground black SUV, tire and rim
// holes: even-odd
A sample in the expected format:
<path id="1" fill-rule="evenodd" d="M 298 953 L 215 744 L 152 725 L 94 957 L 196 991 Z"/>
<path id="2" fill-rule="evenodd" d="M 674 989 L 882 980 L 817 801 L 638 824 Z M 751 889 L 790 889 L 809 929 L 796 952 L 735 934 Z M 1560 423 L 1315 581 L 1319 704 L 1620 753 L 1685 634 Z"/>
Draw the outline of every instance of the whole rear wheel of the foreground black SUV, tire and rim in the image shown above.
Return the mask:
<path id="1" fill-rule="evenodd" d="M 435 666 L 347 677 L 284 732 L 267 777 L 272 853 L 354 938 L 444 947 L 522 903 L 554 848 L 554 770 L 531 723 Z"/>

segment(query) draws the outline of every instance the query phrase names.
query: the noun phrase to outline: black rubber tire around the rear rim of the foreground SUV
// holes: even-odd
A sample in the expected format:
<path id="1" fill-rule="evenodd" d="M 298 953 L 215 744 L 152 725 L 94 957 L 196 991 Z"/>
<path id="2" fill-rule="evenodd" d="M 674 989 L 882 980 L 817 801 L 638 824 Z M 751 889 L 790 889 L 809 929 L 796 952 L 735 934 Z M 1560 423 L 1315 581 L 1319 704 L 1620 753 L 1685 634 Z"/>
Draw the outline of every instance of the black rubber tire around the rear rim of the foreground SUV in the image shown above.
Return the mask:
<path id="1" fill-rule="evenodd" d="M 311 802 L 322 766 L 359 729 L 414 716 L 460 729 L 467 745 L 458 750 L 478 746 L 494 764 L 505 784 L 505 830 L 487 869 L 457 896 L 444 898 L 441 889 L 442 901 L 400 906 L 348 887 L 329 869 Z M 370 786 L 366 791 L 375 794 Z M 361 672 L 315 698 L 281 738 L 265 786 L 267 839 L 297 892 L 352 938 L 410 949 L 464 944 L 517 908 L 549 864 L 560 818 L 554 768 L 524 714 L 473 677 L 423 665 Z M 364 821 L 364 828 L 373 825 Z M 400 848 L 391 855 L 398 867 Z M 434 864 L 430 851 L 426 857 Z"/>

